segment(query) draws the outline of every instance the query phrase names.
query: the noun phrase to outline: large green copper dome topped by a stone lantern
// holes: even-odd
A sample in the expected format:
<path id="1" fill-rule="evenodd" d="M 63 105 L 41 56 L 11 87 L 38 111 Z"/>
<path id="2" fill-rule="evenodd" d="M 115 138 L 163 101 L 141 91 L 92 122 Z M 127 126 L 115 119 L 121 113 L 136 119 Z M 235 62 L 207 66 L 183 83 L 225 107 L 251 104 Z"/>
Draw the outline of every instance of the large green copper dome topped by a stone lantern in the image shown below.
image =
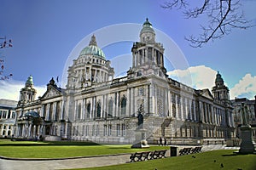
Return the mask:
<path id="1" fill-rule="evenodd" d="M 81 55 L 94 55 L 97 56 L 101 59 L 106 59 L 105 54 L 103 53 L 101 48 L 98 48 L 97 42 L 96 42 L 96 37 L 93 35 L 90 38 L 90 43 L 89 46 L 85 47 L 79 54 Z"/>

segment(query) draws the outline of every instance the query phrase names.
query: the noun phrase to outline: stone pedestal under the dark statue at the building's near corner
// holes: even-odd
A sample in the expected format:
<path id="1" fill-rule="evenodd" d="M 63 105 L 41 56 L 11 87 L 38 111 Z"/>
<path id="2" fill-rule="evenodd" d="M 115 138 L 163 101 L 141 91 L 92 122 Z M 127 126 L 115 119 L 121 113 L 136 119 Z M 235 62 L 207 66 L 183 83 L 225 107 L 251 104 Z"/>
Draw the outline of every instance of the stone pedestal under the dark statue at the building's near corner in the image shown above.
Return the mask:
<path id="1" fill-rule="evenodd" d="M 135 144 L 131 148 L 149 148 L 148 142 L 145 139 L 146 129 L 137 129 L 135 131 Z"/>

